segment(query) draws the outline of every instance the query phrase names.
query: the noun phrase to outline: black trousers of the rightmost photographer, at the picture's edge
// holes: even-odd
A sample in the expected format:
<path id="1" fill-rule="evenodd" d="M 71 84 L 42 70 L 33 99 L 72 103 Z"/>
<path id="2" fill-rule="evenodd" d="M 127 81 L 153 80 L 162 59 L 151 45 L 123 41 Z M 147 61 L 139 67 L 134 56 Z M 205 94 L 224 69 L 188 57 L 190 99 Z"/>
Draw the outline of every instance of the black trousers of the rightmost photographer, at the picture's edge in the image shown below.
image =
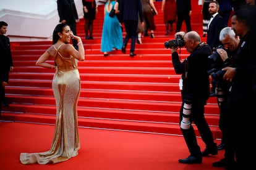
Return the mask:
<path id="1" fill-rule="evenodd" d="M 252 155 L 256 151 L 255 103 L 255 97 L 251 95 L 239 102 L 234 102 L 233 97 L 228 97 L 228 120 L 225 126 L 227 147 L 225 147 L 227 154 L 230 155 L 225 153 L 225 158 L 228 165 L 237 169 L 247 169 L 255 164 L 256 156 Z M 234 154 L 231 154 L 232 152 Z"/>

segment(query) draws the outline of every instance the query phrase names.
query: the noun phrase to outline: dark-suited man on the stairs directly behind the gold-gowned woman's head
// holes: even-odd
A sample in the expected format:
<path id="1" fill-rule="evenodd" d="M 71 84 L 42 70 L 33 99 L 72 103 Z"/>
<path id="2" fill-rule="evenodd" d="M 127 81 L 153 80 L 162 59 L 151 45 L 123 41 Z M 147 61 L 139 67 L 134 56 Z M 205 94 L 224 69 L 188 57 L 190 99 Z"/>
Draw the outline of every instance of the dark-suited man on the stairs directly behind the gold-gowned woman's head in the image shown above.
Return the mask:
<path id="1" fill-rule="evenodd" d="M 79 17 L 74 0 L 57 0 L 59 22 L 69 25 L 74 35 L 77 35 L 77 23 Z M 73 46 L 78 49 L 77 41 L 72 39 Z"/>

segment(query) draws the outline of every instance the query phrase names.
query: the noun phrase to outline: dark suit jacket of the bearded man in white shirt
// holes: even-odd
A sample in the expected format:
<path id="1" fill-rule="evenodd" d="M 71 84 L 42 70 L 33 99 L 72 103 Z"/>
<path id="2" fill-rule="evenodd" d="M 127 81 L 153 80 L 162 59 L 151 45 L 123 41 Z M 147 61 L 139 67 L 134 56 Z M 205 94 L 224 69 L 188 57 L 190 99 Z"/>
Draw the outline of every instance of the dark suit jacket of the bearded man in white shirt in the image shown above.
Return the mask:
<path id="1" fill-rule="evenodd" d="M 211 21 L 207 31 L 207 44 L 209 44 L 211 49 L 221 44 L 219 36 L 223 27 L 223 18 L 220 14 L 217 14 Z"/>

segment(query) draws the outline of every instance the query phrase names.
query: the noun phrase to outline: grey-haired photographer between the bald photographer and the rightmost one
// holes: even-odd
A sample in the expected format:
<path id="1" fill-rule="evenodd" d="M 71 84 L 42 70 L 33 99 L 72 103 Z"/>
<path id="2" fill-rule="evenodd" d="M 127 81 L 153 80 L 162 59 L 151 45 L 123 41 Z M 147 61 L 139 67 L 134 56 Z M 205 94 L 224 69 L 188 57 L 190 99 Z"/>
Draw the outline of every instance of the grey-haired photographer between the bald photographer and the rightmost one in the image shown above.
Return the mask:
<path id="1" fill-rule="evenodd" d="M 234 30 L 231 27 L 225 27 L 220 32 L 220 41 L 224 46 L 221 48 L 217 48 L 216 51 L 213 52 L 208 58 L 215 59 L 215 68 L 217 71 L 212 73 L 212 77 L 215 79 L 216 82 L 216 94 L 218 100 L 218 106 L 220 108 L 220 119 L 219 119 L 219 127 L 222 132 L 221 144 L 219 146 L 223 146 L 225 153 L 224 158 L 220 161 L 214 162 L 213 166 L 216 167 L 224 167 L 226 166 L 226 160 L 228 158 L 234 158 L 234 151 L 230 150 L 226 145 L 226 126 L 228 122 L 227 116 L 227 100 L 228 100 L 228 93 L 231 83 L 223 79 L 224 71 L 221 69 L 224 67 L 228 67 L 231 65 L 231 62 L 234 60 L 234 57 L 237 53 L 237 47 L 239 46 L 239 38 L 234 33 Z"/>

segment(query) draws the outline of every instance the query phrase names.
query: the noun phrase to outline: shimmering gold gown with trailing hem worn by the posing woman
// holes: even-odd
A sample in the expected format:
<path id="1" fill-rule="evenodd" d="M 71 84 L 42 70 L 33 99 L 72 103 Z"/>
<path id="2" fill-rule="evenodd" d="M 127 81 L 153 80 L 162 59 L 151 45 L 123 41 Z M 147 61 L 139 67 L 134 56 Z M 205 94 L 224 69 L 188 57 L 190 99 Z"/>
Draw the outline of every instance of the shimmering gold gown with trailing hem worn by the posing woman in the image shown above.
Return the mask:
<path id="1" fill-rule="evenodd" d="M 79 70 L 56 70 L 53 78 L 56 100 L 56 124 L 53 143 L 47 152 L 20 153 L 22 164 L 59 163 L 78 155 L 80 148 L 77 102 L 80 95 Z"/>

